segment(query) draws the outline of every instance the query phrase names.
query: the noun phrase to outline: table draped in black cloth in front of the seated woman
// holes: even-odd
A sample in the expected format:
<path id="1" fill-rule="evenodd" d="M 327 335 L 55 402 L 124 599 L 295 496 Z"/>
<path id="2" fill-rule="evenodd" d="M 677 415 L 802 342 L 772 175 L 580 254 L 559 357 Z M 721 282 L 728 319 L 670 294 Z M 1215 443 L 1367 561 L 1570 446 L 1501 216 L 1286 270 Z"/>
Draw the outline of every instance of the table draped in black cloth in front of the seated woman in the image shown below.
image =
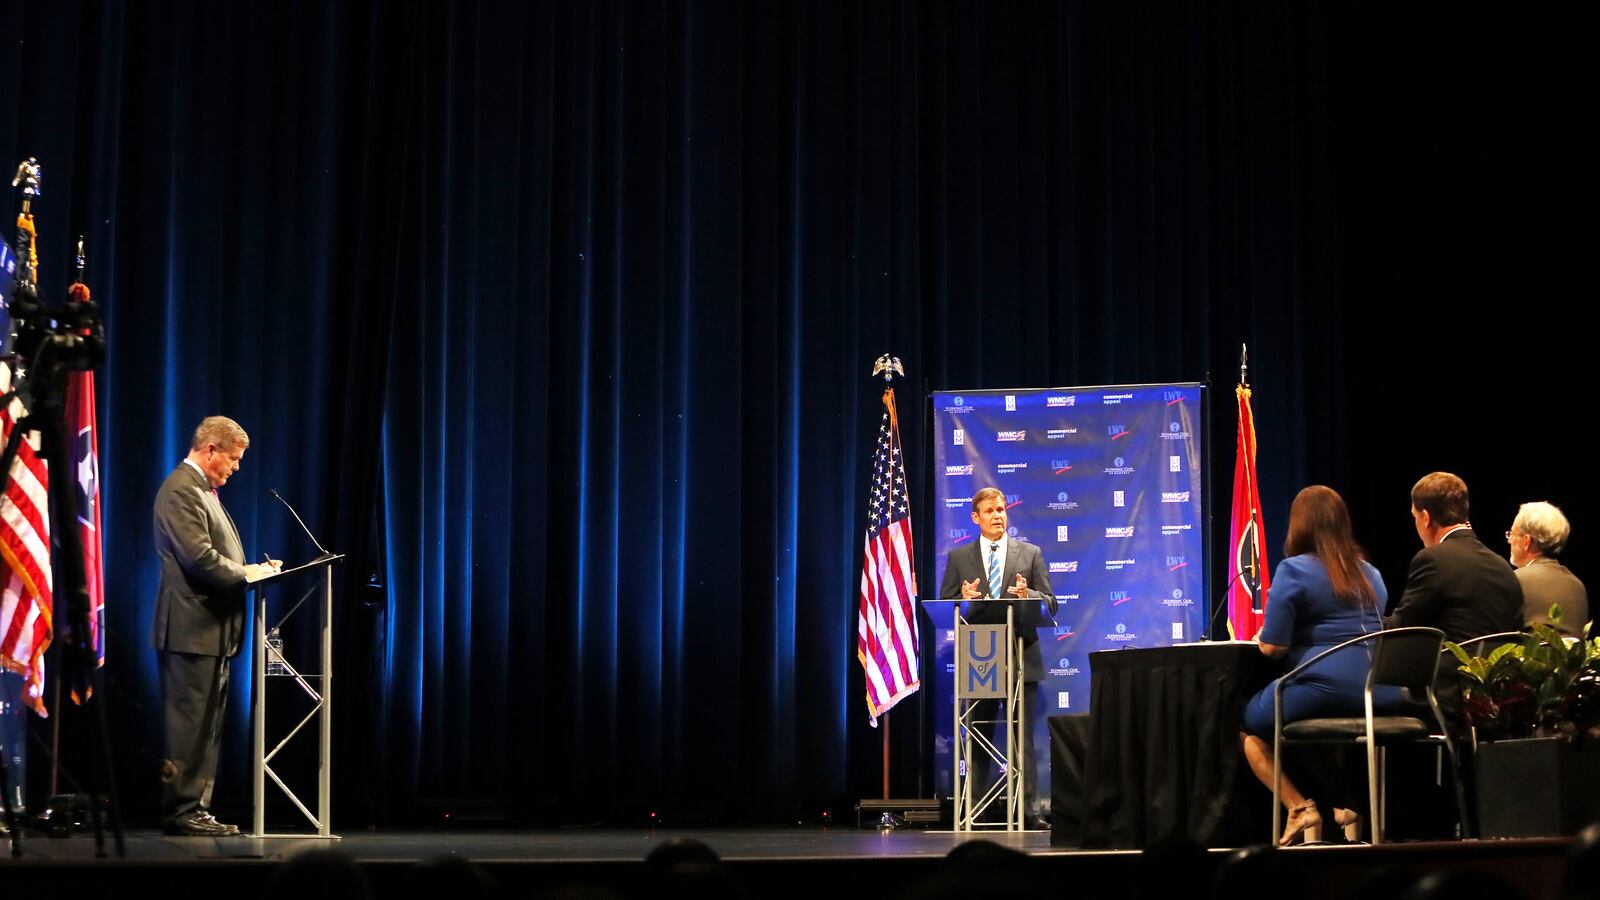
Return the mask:
<path id="1" fill-rule="evenodd" d="M 1050 722 L 1051 753 L 1061 754 L 1051 815 L 1062 828 L 1053 839 L 1120 849 L 1166 836 L 1208 847 L 1259 842 L 1272 810 L 1245 762 L 1238 717 L 1277 663 L 1253 642 L 1214 642 L 1102 650 L 1090 653 L 1090 668 L 1086 735 L 1083 717 Z M 1082 777 L 1058 780 L 1056 769 Z"/>

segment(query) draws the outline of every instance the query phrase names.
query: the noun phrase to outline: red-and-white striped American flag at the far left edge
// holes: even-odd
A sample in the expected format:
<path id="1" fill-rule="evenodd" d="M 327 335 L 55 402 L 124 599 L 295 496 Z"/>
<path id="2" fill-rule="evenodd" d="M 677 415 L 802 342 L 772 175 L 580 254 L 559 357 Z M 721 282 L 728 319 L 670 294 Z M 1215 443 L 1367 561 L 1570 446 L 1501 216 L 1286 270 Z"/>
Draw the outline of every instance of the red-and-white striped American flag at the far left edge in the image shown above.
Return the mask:
<path id="1" fill-rule="evenodd" d="M 11 367 L 0 362 L 0 394 L 11 392 Z M 0 447 L 26 415 L 13 397 L 0 407 Z M 0 490 L 0 666 L 24 679 L 24 701 L 45 714 L 45 649 L 50 647 L 50 472 L 38 436 L 18 445 Z"/>

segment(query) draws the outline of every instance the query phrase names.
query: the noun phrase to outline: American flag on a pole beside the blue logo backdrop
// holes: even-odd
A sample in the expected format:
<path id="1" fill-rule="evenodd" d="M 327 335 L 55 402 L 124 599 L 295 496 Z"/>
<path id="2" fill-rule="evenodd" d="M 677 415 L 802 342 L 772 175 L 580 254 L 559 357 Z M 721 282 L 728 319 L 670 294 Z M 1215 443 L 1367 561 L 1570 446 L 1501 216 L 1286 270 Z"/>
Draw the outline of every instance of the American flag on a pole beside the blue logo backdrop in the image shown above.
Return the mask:
<path id="1" fill-rule="evenodd" d="M 856 658 L 866 669 L 867 713 L 877 727 L 878 716 L 922 687 L 910 496 L 906 490 L 906 460 L 901 455 L 893 388 L 883 391 L 883 421 L 872 453 L 870 495 L 866 552 L 861 560 Z"/>

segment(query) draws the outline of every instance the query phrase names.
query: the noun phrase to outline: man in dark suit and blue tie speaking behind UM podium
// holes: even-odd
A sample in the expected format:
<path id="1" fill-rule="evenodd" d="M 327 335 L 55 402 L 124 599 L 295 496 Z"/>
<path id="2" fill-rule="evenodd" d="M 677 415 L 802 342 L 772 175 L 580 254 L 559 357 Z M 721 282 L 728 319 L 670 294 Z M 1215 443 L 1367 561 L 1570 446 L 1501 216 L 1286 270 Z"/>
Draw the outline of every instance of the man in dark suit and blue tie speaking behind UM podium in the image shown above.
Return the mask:
<path id="1" fill-rule="evenodd" d="M 946 601 L 978 599 L 1029 599 L 1040 601 L 1056 615 L 1056 594 L 1050 591 L 1050 573 L 1038 548 L 1022 543 L 1006 533 L 1005 495 L 986 487 L 973 496 L 973 524 L 979 540 L 955 548 L 944 567 L 944 583 L 939 597 Z M 1035 697 L 1038 682 L 1045 677 L 1045 660 L 1038 652 L 1038 626 L 1045 623 L 1040 602 L 1016 604 L 1018 637 L 1022 641 L 1022 733 L 1027 735 L 1027 764 L 1022 767 L 1022 809 L 1027 825 L 1043 826 L 1038 809 L 1038 773 L 1034 765 L 1034 717 L 1038 714 Z M 965 618 L 971 623 L 1003 623 L 1008 604 L 963 604 Z M 992 717 L 981 713 L 979 717 Z M 1011 748 L 1006 748 L 1011 753 Z M 974 769 L 987 772 L 987 756 L 974 754 Z"/>

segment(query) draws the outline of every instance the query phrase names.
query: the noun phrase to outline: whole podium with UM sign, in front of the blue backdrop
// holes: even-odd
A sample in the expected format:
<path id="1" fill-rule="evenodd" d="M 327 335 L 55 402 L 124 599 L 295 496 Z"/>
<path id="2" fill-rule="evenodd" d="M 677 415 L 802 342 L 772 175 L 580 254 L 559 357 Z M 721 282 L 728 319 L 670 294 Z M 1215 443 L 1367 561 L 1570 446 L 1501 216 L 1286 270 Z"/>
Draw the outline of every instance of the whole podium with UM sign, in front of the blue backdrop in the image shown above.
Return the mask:
<path id="1" fill-rule="evenodd" d="M 1026 812 L 1022 809 L 1022 770 L 1029 765 L 1027 741 L 1022 729 L 1027 721 L 1022 717 L 1022 641 L 1018 637 L 1018 605 L 1038 601 L 923 601 L 923 604 L 950 604 L 950 617 L 955 626 L 955 697 L 954 716 L 950 721 L 950 745 L 955 748 L 955 831 L 971 833 L 982 830 L 1024 831 Z M 1005 609 L 1003 621 L 968 621 L 962 615 L 962 604 L 982 609 L 984 613 L 974 618 L 998 618 L 997 610 Z M 931 610 L 930 610 L 931 612 Z M 990 701 L 990 703 L 986 703 Z M 995 709 L 995 717 L 981 717 L 984 709 Z M 1005 735 L 1005 748 L 995 743 L 987 729 L 995 725 L 995 732 Z M 976 786 L 973 772 L 974 749 L 990 762 L 990 770 L 998 775 L 987 785 Z M 1003 822 L 979 822 L 979 817 L 994 804 L 1002 804 Z"/>

